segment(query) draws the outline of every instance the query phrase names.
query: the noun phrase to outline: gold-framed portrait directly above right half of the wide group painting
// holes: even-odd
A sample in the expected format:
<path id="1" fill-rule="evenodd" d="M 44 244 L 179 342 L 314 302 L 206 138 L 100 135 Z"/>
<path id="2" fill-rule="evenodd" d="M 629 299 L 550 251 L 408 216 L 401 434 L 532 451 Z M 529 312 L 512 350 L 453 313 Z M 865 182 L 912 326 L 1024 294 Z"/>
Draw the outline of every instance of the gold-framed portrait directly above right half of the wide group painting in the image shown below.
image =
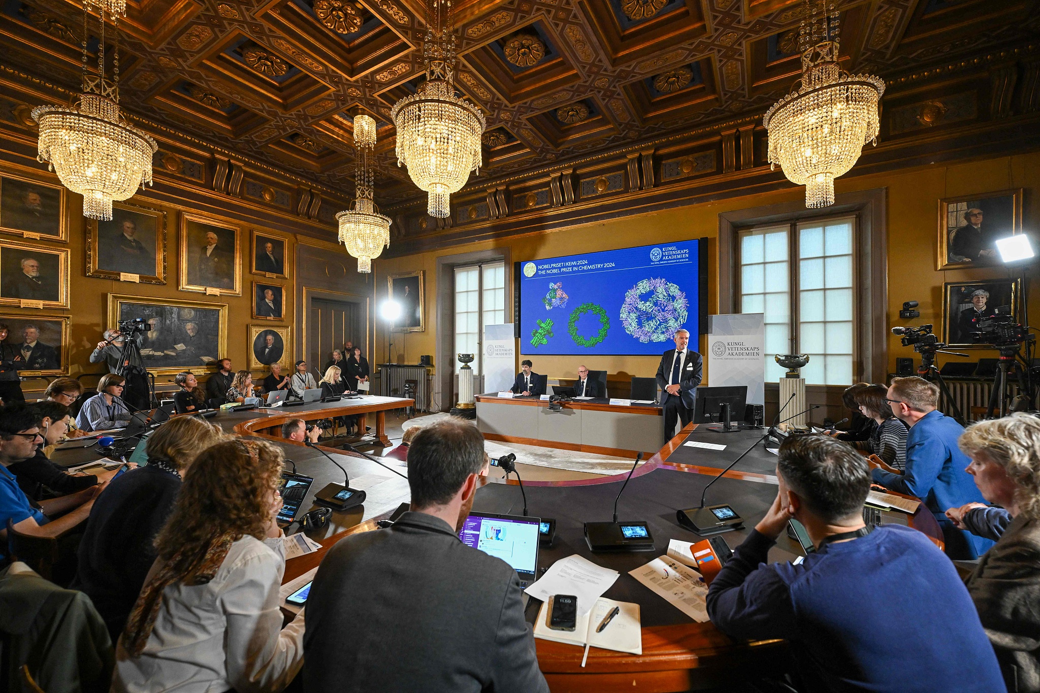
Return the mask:
<path id="1" fill-rule="evenodd" d="M 241 296 L 241 228 L 227 221 L 181 213 L 182 291 Z"/>

